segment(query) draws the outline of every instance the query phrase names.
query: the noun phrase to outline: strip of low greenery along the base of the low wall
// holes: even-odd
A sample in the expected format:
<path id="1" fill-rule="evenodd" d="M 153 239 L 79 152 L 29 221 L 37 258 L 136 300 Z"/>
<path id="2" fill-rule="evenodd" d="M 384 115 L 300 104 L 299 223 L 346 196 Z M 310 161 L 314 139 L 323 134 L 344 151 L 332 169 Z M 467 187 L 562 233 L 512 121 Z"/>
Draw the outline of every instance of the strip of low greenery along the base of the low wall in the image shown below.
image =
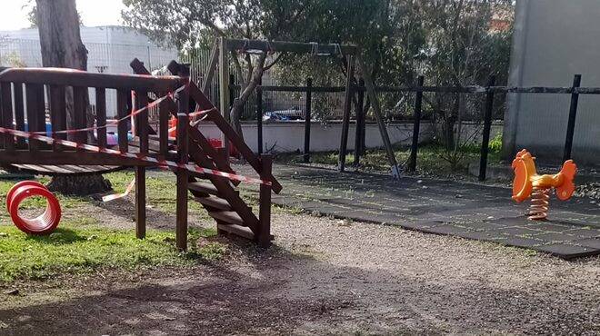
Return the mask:
<path id="1" fill-rule="evenodd" d="M 500 162 L 500 148 L 490 143 L 490 152 L 488 163 Z M 410 147 L 395 145 L 395 158 L 400 165 L 408 161 Z M 426 144 L 419 146 L 417 151 L 417 173 L 435 174 L 435 175 L 466 175 L 468 174 L 468 164 L 479 160 L 479 146 L 464 146 L 460 152 L 455 154 L 454 160 L 451 154 L 445 151 L 445 148 L 439 144 Z M 285 163 L 301 163 L 302 155 L 296 153 L 279 154 L 277 160 Z M 337 165 L 338 152 L 318 152 L 311 153 L 311 163 Z M 354 163 L 354 153 L 348 153 L 345 156 L 346 164 Z M 455 164 L 453 164 L 453 161 Z M 383 149 L 367 150 L 365 155 L 360 158 L 361 167 L 365 170 L 387 172 L 389 162 Z"/>

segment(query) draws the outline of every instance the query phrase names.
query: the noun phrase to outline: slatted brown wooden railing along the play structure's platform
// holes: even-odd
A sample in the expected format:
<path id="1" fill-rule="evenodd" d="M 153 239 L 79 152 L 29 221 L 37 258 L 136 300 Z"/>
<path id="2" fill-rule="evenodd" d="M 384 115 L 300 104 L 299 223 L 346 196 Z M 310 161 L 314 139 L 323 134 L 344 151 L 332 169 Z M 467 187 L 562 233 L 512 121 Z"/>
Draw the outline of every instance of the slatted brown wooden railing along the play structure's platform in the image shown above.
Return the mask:
<path id="1" fill-rule="evenodd" d="M 97 144 L 100 148 L 107 146 L 106 138 L 106 91 L 116 91 L 117 118 L 123 119 L 117 125 L 118 147 L 123 153 L 129 151 L 127 133 L 130 130 L 127 115 L 132 110 L 132 92 L 135 93 L 135 109 L 148 106 L 147 93 L 174 92 L 185 85 L 185 79 L 177 76 L 151 77 L 137 74 L 94 74 L 79 70 L 63 68 L 7 68 L 0 73 L 0 107 L 2 109 L 1 125 L 19 131 L 46 131 L 46 109 L 49 114 L 50 128 L 56 139 L 69 139 L 76 143 Z M 89 88 L 95 91 L 95 114 L 88 112 L 87 100 Z M 68 102 L 72 102 L 69 104 Z M 164 106 L 160 104 L 159 106 Z M 73 109 L 71 118 L 67 119 L 67 110 Z M 135 143 L 140 153 L 149 153 L 154 141 L 149 140 L 151 128 L 148 124 L 147 109 L 135 116 Z M 163 112 L 167 117 L 169 111 Z M 67 123 L 69 120 L 69 123 Z M 26 127 L 25 127 L 26 125 Z M 98 127 L 95 131 L 75 130 L 90 126 Z M 161 135 L 166 135 L 168 125 L 161 124 Z M 74 131 L 64 133 L 64 131 Z M 58 133 L 55 133 L 58 132 Z M 68 135 L 68 136 L 67 136 Z M 164 156 L 168 154 L 167 136 L 158 137 L 156 151 Z M 13 135 L 2 135 L 2 148 L 16 151 L 15 163 L 36 161 L 28 152 L 45 151 L 73 152 L 72 148 L 55 145 L 50 148 L 46 143 L 35 139 L 25 141 Z M 43 158 L 44 155 L 37 156 Z M 95 159 L 91 159 L 95 157 Z M 113 159 L 103 159 L 103 155 L 83 153 L 77 155 L 71 164 L 111 164 Z M 69 160 L 66 160 L 69 161 Z M 110 162 L 110 163 L 108 163 Z M 142 164 L 143 165 L 143 164 Z"/>

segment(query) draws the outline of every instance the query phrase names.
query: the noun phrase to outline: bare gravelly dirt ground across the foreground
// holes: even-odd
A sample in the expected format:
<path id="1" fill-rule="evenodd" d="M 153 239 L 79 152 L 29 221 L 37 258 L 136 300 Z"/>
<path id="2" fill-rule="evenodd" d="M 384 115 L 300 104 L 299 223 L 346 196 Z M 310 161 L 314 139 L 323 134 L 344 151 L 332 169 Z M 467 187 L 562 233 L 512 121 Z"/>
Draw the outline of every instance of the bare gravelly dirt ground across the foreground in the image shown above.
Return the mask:
<path id="1" fill-rule="evenodd" d="M 95 215 L 119 226 L 125 208 Z M 266 252 L 234 242 L 192 269 L 19 284 L 0 293 L 0 334 L 600 333 L 600 258 L 307 214 L 273 222 Z"/>

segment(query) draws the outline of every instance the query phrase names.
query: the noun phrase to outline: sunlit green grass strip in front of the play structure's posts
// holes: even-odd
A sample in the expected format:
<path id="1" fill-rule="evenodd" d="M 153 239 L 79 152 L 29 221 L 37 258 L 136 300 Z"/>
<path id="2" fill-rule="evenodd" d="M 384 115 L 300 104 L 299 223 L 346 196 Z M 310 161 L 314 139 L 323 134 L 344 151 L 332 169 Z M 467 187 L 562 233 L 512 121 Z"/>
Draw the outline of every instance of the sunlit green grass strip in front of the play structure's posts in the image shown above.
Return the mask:
<path id="1" fill-rule="evenodd" d="M 43 280 L 62 273 L 85 273 L 147 266 L 191 266 L 214 261 L 225 252 L 219 242 L 197 246 L 215 230 L 190 230 L 188 252 L 175 249 L 175 232 L 149 230 L 144 240 L 132 230 L 64 225 L 48 236 L 28 236 L 0 226 L 0 282 Z"/>

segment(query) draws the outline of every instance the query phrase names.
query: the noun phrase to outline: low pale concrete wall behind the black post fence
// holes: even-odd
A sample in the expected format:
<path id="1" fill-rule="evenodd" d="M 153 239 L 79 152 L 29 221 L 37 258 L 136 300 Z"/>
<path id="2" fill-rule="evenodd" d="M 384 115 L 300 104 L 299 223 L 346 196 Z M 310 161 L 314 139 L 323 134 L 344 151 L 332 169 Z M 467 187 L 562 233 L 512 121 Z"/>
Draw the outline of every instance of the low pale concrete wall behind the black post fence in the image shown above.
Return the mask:
<path id="1" fill-rule="evenodd" d="M 471 134 L 481 125 L 464 124 L 463 134 Z M 220 138 L 221 132 L 213 124 L 200 124 L 200 131 L 207 138 Z M 257 151 L 257 134 L 255 123 L 242 124 L 245 142 L 248 143 L 253 151 Z M 502 124 L 492 126 L 490 138 L 495 134 L 502 132 Z M 412 123 L 391 123 L 387 124 L 387 133 L 392 143 L 410 144 L 412 142 L 413 124 Z M 340 137 L 342 134 L 342 124 L 334 122 L 330 124 L 321 124 L 314 122 L 311 124 L 310 149 L 311 152 L 335 151 L 339 149 Z M 419 143 L 427 143 L 434 139 L 434 127 L 429 122 L 421 124 L 419 132 Z M 475 136 L 475 141 L 481 142 L 481 134 Z M 305 124 L 304 122 L 281 122 L 263 124 L 263 150 L 270 150 L 278 153 L 303 151 L 305 143 Z M 379 133 L 377 124 L 366 124 L 365 145 L 367 148 L 383 147 L 384 142 Z M 348 150 L 355 148 L 355 125 L 350 125 L 348 133 Z"/>

